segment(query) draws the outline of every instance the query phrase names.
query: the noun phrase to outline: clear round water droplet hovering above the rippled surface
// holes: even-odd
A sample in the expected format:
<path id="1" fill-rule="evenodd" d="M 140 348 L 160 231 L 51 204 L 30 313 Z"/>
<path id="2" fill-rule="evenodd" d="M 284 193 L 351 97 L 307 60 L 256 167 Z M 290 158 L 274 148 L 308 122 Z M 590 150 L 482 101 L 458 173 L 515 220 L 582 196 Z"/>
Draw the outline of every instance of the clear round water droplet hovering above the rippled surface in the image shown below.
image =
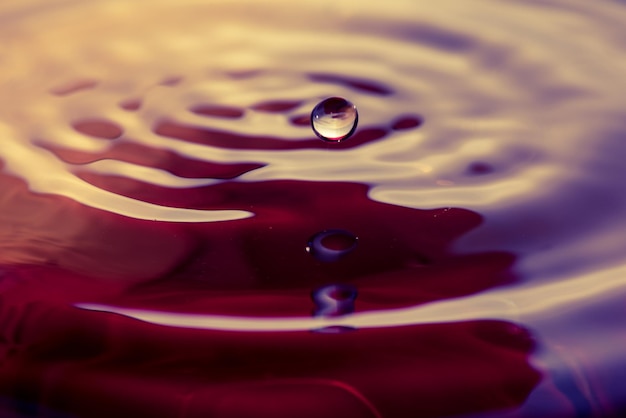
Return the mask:
<path id="1" fill-rule="evenodd" d="M 348 139 L 356 130 L 356 106 L 341 97 L 322 100 L 311 112 L 311 126 L 317 136 L 329 142 Z"/>

